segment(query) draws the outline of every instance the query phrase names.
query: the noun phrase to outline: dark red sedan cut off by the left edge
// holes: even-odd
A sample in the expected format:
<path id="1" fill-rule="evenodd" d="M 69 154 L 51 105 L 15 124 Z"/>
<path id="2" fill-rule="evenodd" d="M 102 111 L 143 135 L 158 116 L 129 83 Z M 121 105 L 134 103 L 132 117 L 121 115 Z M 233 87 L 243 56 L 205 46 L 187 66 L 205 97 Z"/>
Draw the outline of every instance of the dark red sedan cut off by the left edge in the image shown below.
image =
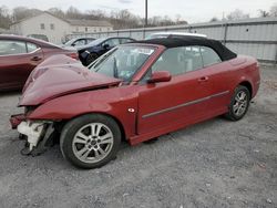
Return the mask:
<path id="1" fill-rule="evenodd" d="M 0 35 L 0 91 L 22 89 L 32 70 L 47 58 L 57 54 L 79 59 L 75 49 L 61 49 L 24 37 Z"/>

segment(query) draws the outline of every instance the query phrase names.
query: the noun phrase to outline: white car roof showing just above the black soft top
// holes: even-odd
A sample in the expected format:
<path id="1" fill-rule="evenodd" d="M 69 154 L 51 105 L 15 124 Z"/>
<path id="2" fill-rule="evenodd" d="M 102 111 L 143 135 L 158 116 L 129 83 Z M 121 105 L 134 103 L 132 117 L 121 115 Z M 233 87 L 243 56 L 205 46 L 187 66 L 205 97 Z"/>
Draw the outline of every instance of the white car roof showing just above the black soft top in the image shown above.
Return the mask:
<path id="1" fill-rule="evenodd" d="M 145 40 L 150 39 L 166 39 L 166 38 L 182 38 L 182 37 L 199 37 L 207 38 L 206 34 L 189 33 L 189 32 L 156 32 L 146 37 Z"/>

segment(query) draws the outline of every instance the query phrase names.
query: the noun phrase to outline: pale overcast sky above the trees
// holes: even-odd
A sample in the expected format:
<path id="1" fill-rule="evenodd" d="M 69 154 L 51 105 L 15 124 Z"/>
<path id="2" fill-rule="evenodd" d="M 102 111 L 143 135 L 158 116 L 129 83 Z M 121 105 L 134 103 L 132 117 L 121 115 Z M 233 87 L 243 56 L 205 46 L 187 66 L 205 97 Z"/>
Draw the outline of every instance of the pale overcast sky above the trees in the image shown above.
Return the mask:
<path id="1" fill-rule="evenodd" d="M 81 11 L 90 9 L 111 10 L 129 9 L 131 12 L 144 17 L 145 0 L 1 0 L 0 4 L 9 9 L 14 7 L 29 7 L 40 10 L 58 7 L 66 10 L 70 6 Z M 175 19 L 181 14 L 183 20 L 191 23 L 204 22 L 213 17 L 222 18 L 235 10 L 240 9 L 250 17 L 256 17 L 258 10 L 269 10 L 277 0 L 148 0 L 148 17 L 168 15 Z"/>

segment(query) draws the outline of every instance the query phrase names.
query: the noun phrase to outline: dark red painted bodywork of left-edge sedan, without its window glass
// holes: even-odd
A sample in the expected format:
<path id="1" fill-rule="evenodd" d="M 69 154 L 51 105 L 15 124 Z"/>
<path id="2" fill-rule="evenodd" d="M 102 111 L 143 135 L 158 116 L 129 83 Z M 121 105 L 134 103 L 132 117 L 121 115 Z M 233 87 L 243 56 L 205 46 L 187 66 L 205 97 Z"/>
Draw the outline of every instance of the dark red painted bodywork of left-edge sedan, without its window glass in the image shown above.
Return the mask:
<path id="1" fill-rule="evenodd" d="M 0 40 L 29 42 L 39 48 L 31 53 L 0 55 L 0 91 L 22 89 L 32 70 L 52 55 L 65 54 L 78 59 L 76 51 L 64 50 L 37 39 L 0 35 Z"/>

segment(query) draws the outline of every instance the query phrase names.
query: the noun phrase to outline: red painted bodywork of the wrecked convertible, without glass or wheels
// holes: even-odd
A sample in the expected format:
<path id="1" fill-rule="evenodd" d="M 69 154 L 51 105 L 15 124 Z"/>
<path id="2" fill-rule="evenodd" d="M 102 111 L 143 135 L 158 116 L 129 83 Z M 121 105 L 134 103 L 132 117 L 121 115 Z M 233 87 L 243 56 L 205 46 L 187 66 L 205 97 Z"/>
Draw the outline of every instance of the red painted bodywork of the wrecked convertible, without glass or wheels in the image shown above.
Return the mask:
<path id="1" fill-rule="evenodd" d="M 167 82 L 140 83 L 165 50 L 164 46 L 155 46 L 154 54 L 129 85 L 120 85 L 116 79 L 89 73 L 73 61 L 61 66 L 53 60 L 55 66 L 40 66 L 49 67 L 44 75 L 35 76 L 38 72 L 34 71 L 33 75 L 40 82 L 29 84 L 20 105 L 37 105 L 28 114 L 29 119 L 59 122 L 89 113 L 110 115 L 121 124 L 126 139 L 134 145 L 226 113 L 233 92 L 240 83 L 252 86 L 253 97 L 258 91 L 257 61 L 248 56 L 171 79 L 165 72 L 154 74 L 154 77 L 163 77 L 162 81 L 166 77 Z M 66 61 L 65 58 L 61 60 Z M 134 111 L 130 112 L 130 108 Z"/>

